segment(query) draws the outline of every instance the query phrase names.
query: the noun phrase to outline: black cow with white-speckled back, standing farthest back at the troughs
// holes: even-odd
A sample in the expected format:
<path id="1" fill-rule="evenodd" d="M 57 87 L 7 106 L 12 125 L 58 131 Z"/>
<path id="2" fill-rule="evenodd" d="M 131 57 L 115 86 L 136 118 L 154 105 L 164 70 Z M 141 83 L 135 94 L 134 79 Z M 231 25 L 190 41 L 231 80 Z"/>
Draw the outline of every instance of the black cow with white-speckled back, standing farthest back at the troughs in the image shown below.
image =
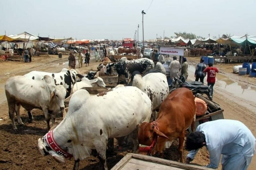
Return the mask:
<path id="1" fill-rule="evenodd" d="M 129 61 L 126 57 L 122 57 L 117 63 L 108 63 L 106 67 L 105 74 L 124 75 L 127 84 L 134 71 L 140 71 L 143 74 L 146 70 L 155 68 L 155 64 L 148 58 Z"/>

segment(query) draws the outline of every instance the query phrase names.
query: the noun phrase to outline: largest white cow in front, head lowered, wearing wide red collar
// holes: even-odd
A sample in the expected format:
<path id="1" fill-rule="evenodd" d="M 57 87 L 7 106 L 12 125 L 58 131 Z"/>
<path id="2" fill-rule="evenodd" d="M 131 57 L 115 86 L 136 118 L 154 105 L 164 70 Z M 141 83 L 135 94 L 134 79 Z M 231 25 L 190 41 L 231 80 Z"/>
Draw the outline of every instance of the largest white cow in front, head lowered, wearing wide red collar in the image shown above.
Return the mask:
<path id="1" fill-rule="evenodd" d="M 137 87 L 113 88 L 93 96 L 80 89 L 72 95 L 68 113 L 62 122 L 38 139 L 39 151 L 42 155 L 52 155 L 62 164 L 66 163 L 65 158 L 73 156 L 74 169 L 77 170 L 79 160 L 89 157 L 92 149 L 96 149 L 107 169 L 108 139 L 136 132 L 140 123 L 149 121 L 151 107 L 148 96 Z M 137 148 L 138 137 L 135 134 L 133 142 Z"/>

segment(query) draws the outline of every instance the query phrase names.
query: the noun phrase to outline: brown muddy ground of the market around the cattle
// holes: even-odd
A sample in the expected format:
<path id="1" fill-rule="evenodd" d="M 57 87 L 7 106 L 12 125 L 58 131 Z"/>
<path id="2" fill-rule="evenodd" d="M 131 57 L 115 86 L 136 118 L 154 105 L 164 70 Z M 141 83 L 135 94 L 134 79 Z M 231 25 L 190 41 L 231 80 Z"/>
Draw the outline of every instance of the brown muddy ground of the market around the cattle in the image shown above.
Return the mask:
<path id="1" fill-rule="evenodd" d="M 33 110 L 34 122 L 28 123 L 28 115 L 21 108 L 21 119 L 24 125 L 18 125 L 18 130 L 12 130 L 11 121 L 8 116 L 8 106 L 4 94 L 4 82 L 14 75 L 24 75 L 32 70 L 59 72 L 62 68 L 68 68 L 67 55 L 59 59 L 57 55 L 34 57 L 32 63 L 21 62 L 0 62 L 0 169 L 72 169 L 73 159 L 67 160 L 66 165 L 60 165 L 52 159 L 51 156 L 42 156 L 37 148 L 37 140 L 47 133 L 44 115 L 40 110 Z M 187 57 L 189 68 L 189 79 L 194 80 L 194 69 L 200 57 Z M 78 69 L 80 73 L 87 73 L 90 70 L 96 70 L 98 63 L 91 63 L 92 66 Z M 234 64 L 233 64 L 234 65 Z M 235 119 L 243 122 L 249 129 L 255 133 L 256 103 L 255 103 L 255 78 L 238 77 L 232 73 L 233 65 L 219 64 L 220 69 L 218 81 L 214 87 L 213 100 L 220 104 L 224 109 L 225 119 Z M 239 65 L 239 64 L 238 64 Z M 78 65 L 77 65 L 78 67 Z M 230 69 L 231 68 L 231 69 Z M 230 90 L 231 89 L 231 90 Z M 248 94 L 249 93 L 249 94 Z M 244 95 L 245 94 L 245 95 Z M 254 101 L 253 101 L 254 100 Z M 62 120 L 58 115 L 56 122 Z M 17 120 L 16 120 L 17 122 Z M 17 123 L 16 123 L 17 125 Z M 177 152 L 178 142 L 164 152 L 164 159 L 179 160 Z M 131 152 L 132 146 L 124 146 L 122 151 L 117 148 L 114 152 L 107 152 L 108 168 L 112 168 L 127 152 Z M 184 151 L 183 157 L 187 155 Z M 207 165 L 209 163 L 209 154 L 207 150 L 201 149 L 196 155 L 193 163 Z M 249 169 L 256 166 L 255 158 Z M 100 169 L 102 165 L 97 157 L 91 156 L 80 161 L 80 169 Z M 221 169 L 221 168 L 219 168 Z"/>

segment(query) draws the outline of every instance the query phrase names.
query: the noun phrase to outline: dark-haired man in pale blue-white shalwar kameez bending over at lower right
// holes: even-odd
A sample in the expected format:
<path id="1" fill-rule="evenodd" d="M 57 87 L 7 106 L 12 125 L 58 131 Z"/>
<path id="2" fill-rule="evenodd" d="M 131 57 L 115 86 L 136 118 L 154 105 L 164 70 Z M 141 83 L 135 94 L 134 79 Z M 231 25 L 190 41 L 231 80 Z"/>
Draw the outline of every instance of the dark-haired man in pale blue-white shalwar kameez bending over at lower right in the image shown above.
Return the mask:
<path id="1" fill-rule="evenodd" d="M 205 122 L 188 135 L 186 163 L 192 161 L 200 148 L 210 153 L 209 168 L 217 169 L 222 154 L 222 170 L 246 170 L 255 153 L 255 137 L 242 122 L 220 119 Z"/>

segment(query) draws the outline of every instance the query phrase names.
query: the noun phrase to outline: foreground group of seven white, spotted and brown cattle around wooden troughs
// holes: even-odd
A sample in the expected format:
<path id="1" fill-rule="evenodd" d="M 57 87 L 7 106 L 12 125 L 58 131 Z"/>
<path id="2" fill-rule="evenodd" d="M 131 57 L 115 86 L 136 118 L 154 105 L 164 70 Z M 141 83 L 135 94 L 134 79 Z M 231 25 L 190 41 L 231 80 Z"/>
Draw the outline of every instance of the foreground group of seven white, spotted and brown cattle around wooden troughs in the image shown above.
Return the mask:
<path id="1" fill-rule="evenodd" d="M 78 169 L 80 160 L 92 154 L 92 149 L 96 149 L 107 169 L 108 139 L 128 135 L 134 144 L 133 152 L 139 148 L 142 154 L 159 152 L 162 157 L 165 148 L 179 138 L 180 161 L 184 162 L 184 135 L 190 125 L 194 130 L 195 99 L 186 88 L 169 94 L 166 76 L 154 66 L 147 58 L 128 61 L 123 57 L 117 63 L 108 63 L 105 74 L 124 75 L 126 85 L 97 95 L 90 95 L 81 88 L 105 87 L 103 80 L 99 77 L 90 80 L 73 69 L 64 68 L 59 73 L 31 71 L 9 78 L 5 93 L 13 129 L 17 129 L 15 113 L 18 123 L 23 124 L 20 106 L 28 111 L 30 122 L 33 121 L 31 110 L 41 109 L 49 132 L 38 139 L 40 153 L 50 154 L 61 164 L 73 157 L 74 169 Z M 129 78 L 132 78 L 130 83 Z M 63 111 L 64 100 L 70 95 L 66 116 L 58 126 L 53 126 L 56 114 Z"/>

